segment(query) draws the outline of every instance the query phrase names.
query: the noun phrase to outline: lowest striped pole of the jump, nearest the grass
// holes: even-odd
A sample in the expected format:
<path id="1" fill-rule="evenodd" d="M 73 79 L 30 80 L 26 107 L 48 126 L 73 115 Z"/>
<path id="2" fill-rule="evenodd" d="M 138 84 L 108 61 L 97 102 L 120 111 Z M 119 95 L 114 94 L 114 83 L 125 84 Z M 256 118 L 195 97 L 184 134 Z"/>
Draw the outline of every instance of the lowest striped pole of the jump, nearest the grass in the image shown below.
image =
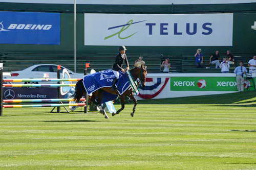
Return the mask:
<path id="1" fill-rule="evenodd" d="M 72 104 L 45 104 L 45 105 L 3 105 L 4 108 L 20 108 L 20 107 L 60 107 L 60 106 L 85 106 L 85 103 Z"/>

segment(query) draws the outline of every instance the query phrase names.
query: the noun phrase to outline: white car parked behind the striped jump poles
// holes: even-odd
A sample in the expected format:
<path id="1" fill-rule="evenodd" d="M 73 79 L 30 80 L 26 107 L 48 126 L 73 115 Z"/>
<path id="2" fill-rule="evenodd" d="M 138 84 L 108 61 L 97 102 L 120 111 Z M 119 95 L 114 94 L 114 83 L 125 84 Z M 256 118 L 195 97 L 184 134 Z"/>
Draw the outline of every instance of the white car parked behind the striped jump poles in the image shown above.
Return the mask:
<path id="1" fill-rule="evenodd" d="M 20 71 L 12 71 L 11 72 L 11 79 L 42 79 L 44 78 L 44 74 L 49 74 L 50 79 L 57 79 L 57 66 L 56 64 L 37 64 L 32 65 L 24 70 Z M 61 66 L 60 70 L 60 78 L 62 78 L 62 70 L 65 67 Z M 83 74 L 74 73 L 73 71 L 68 70 L 71 79 L 82 79 Z M 14 83 L 14 82 L 12 82 Z M 57 82 L 17 82 L 18 84 L 21 83 L 33 83 L 33 84 L 54 84 Z"/>

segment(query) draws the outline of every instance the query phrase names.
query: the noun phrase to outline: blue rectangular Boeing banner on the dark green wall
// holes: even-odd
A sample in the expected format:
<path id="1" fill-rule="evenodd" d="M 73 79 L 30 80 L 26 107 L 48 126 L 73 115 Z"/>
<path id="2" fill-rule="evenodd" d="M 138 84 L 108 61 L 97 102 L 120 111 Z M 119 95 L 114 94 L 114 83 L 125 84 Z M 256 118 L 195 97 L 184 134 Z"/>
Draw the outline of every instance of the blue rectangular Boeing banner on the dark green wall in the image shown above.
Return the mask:
<path id="1" fill-rule="evenodd" d="M 60 44 L 60 14 L 0 12 L 0 44 Z"/>

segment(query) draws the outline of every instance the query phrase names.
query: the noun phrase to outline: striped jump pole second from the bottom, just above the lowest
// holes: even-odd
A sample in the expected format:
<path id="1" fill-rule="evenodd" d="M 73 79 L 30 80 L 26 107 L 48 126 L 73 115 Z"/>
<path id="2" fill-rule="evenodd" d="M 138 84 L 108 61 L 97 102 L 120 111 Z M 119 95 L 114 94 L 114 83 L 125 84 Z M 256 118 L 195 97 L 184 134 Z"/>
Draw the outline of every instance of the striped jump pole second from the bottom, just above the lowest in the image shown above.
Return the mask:
<path id="1" fill-rule="evenodd" d="M 72 102 L 74 99 L 13 99 L 3 100 L 4 103 L 32 103 L 32 102 Z M 86 101 L 82 98 L 80 101 Z"/>

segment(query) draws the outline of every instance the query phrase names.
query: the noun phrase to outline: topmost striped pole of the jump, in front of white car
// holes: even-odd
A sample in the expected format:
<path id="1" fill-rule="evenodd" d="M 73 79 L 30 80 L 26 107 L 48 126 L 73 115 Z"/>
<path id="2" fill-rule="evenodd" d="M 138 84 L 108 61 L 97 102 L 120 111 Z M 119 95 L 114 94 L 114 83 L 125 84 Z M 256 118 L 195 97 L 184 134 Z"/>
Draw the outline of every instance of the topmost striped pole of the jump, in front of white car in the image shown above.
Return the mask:
<path id="1" fill-rule="evenodd" d="M 3 79 L 4 82 L 77 82 L 81 79 Z"/>

